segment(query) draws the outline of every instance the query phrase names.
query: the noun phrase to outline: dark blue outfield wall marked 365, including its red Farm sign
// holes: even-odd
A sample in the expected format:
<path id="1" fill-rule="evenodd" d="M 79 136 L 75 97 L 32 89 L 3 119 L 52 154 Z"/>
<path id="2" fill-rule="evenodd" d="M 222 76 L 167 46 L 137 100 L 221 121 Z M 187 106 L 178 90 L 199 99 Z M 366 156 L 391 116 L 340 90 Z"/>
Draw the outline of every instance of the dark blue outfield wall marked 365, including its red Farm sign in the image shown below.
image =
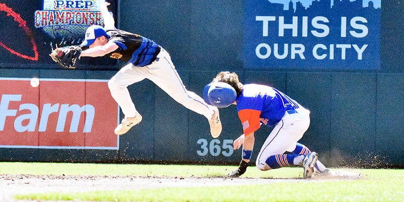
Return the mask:
<path id="1" fill-rule="evenodd" d="M 382 2 L 380 68 L 371 70 L 246 66 L 243 49 L 246 7 L 244 1 L 144 1 L 142 4 L 122 1 L 119 26 L 164 46 L 186 87 L 199 95 L 218 72 L 234 71 L 243 83 L 268 84 L 296 99 L 311 110 L 312 117 L 311 126 L 300 142 L 317 151 L 326 165 L 404 166 L 401 146 L 404 53 L 400 52 L 404 44 L 401 34 L 404 6 Z M 38 49 L 42 54 L 47 51 Z M 0 48 L 0 54 L 9 53 Z M 223 131 L 218 139 L 213 139 L 205 117 L 180 106 L 160 88 L 144 80 L 129 86 L 143 120 L 127 134 L 116 137 L 113 125 L 122 114 L 111 103 L 106 81 L 123 64 L 61 70 L 53 64 L 30 63 L 34 64 L 0 68 L 3 78 L 0 110 L 4 112 L 0 114 L 0 120 L 4 121 L 4 129 L 0 130 L 1 161 L 236 165 L 240 160 L 240 150 L 233 151 L 231 143 L 242 133 L 235 106 L 220 110 Z M 34 76 L 42 79 L 38 88 L 29 86 L 29 79 Z M 46 82 L 51 84 L 46 87 Z M 19 85 L 27 87 L 16 87 Z M 21 94 L 21 101 L 10 94 Z M 100 104 L 98 99 L 107 103 Z M 21 104 L 32 105 L 21 108 Z M 40 118 L 45 104 L 49 104 L 50 110 L 46 127 L 41 125 Z M 70 129 L 74 121 L 69 113 L 62 125 L 62 108 L 52 108 L 56 104 L 60 104 L 58 107 L 87 106 L 83 109 L 89 110 L 94 107 L 91 131 L 84 129 L 87 116 L 84 113 L 80 114 L 77 131 L 74 127 Z M 25 108 L 32 106 L 38 106 L 38 119 L 33 131 L 29 131 L 35 116 L 27 116 L 32 110 Z M 271 128 L 261 128 L 257 132 L 252 159 L 270 131 Z"/>

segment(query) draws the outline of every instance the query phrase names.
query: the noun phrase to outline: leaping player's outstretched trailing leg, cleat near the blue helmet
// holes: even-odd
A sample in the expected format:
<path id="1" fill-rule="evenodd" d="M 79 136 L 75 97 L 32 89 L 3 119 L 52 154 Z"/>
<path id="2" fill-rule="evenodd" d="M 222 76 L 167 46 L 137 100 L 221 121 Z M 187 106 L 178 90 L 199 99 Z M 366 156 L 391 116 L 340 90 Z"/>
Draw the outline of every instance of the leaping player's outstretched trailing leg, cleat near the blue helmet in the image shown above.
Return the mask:
<path id="1" fill-rule="evenodd" d="M 196 93 L 186 89 L 175 70 L 170 55 L 163 48 L 158 58 L 159 61 L 145 67 L 150 72 L 147 78 L 164 90 L 176 102 L 210 120 L 212 136 L 218 137 L 222 131 L 219 110 L 206 104 L 204 99 Z"/>

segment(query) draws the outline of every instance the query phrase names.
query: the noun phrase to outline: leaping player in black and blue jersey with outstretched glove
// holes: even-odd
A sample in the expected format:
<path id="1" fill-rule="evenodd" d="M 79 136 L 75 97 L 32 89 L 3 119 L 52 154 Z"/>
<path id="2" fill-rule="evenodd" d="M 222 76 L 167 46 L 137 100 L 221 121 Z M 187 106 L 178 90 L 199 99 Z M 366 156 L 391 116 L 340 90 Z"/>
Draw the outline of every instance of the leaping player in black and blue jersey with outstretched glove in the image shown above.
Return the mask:
<path id="1" fill-rule="evenodd" d="M 81 57 L 105 55 L 127 62 L 108 82 L 112 97 L 122 109 L 125 117 L 115 129 L 122 135 L 139 124 L 142 116 L 136 110 L 127 87 L 143 79 L 149 79 L 169 94 L 176 102 L 198 114 L 204 115 L 210 124 L 211 135 L 216 138 L 222 131 L 219 110 L 204 102 L 204 99 L 185 88 L 168 52 L 155 41 L 138 34 L 115 28 L 113 16 L 108 12 L 108 2 L 99 6 L 105 27 L 92 25 L 85 33 L 80 47 L 57 48 L 52 59 L 66 69 L 76 68 Z"/>

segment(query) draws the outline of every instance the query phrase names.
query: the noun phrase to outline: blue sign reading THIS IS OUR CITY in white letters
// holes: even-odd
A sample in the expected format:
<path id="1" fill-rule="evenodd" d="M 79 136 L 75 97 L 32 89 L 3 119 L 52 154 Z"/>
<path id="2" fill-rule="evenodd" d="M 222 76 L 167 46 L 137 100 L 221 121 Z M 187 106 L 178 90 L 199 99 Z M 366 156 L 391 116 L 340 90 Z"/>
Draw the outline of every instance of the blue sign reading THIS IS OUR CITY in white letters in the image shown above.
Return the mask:
<path id="1" fill-rule="evenodd" d="M 249 0 L 244 67 L 380 69 L 381 0 Z"/>

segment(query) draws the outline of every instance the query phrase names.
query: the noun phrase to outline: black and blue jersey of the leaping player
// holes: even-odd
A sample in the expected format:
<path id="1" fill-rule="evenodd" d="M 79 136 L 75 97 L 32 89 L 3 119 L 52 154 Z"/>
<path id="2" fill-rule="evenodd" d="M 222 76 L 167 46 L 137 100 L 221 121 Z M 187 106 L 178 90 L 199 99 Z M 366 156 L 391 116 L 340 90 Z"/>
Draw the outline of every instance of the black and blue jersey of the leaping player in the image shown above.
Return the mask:
<path id="1" fill-rule="evenodd" d="M 108 41 L 119 46 L 109 54 L 111 58 L 143 67 L 154 62 L 160 53 L 160 46 L 153 40 L 120 29 L 106 29 L 106 31 L 110 36 Z"/>

